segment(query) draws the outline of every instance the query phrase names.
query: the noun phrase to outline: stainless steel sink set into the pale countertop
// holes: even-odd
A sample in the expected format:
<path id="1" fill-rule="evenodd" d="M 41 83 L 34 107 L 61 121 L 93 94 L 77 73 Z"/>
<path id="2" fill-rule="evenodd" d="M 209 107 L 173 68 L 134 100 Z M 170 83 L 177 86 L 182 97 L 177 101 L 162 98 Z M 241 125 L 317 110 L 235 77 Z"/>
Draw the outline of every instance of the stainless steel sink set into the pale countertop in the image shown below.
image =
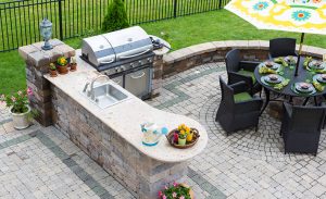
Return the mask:
<path id="1" fill-rule="evenodd" d="M 93 94 L 93 100 L 90 98 L 90 96 L 88 98 L 101 109 L 105 109 L 129 98 L 126 94 L 110 83 L 95 86 Z"/>

